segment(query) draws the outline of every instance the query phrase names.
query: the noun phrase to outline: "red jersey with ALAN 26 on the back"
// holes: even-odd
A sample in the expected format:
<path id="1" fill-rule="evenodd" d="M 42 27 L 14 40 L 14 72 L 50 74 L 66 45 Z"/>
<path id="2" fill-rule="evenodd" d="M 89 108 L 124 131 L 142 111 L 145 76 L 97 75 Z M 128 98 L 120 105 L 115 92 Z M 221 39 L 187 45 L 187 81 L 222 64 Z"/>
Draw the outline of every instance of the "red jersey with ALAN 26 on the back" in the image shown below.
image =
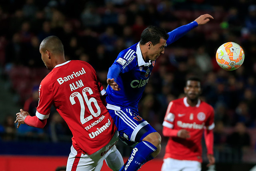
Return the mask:
<path id="1" fill-rule="evenodd" d="M 36 116 L 47 119 L 54 105 L 72 131 L 74 148 L 90 155 L 107 145 L 116 131 L 100 99 L 105 92 L 90 64 L 67 61 L 42 80 Z"/>

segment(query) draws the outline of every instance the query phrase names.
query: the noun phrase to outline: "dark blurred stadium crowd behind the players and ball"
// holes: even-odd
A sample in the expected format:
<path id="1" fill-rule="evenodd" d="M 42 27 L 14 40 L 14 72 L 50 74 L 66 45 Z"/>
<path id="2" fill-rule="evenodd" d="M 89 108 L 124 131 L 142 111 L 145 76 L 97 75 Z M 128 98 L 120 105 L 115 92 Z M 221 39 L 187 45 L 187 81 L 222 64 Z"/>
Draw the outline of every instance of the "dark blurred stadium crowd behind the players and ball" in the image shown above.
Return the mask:
<path id="1" fill-rule="evenodd" d="M 10 82 L 10 90 L 18 94 L 17 105 L 23 107 L 26 102 L 27 109 L 33 110 L 37 101 L 32 99 L 33 90 L 49 72 L 40 59 L 39 45 L 47 36 L 55 35 L 64 44 L 66 59 L 89 62 L 106 88 L 108 68 L 119 52 L 140 40 L 144 28 L 156 25 L 170 32 L 206 13 L 214 20 L 166 47 L 156 61 L 140 100 L 140 113 L 161 133 L 168 103 L 183 97 L 186 78 L 197 75 L 202 79 L 201 99 L 215 109 L 214 144 L 230 143 L 254 151 L 255 134 L 246 134 L 246 130 L 256 130 L 253 0 L 0 0 L 1 79 Z M 232 72 L 216 63 L 216 50 L 225 42 L 236 42 L 245 52 L 244 64 Z M 24 128 L 25 137 L 16 130 L 15 113 L 5 112 L 1 114 L 6 117 L 0 128 L 2 141 L 33 139 L 29 137 L 33 131 L 40 135 L 34 139 L 70 141 L 70 131 L 54 110 L 46 129 Z M 239 136 L 246 138 L 233 141 Z"/>

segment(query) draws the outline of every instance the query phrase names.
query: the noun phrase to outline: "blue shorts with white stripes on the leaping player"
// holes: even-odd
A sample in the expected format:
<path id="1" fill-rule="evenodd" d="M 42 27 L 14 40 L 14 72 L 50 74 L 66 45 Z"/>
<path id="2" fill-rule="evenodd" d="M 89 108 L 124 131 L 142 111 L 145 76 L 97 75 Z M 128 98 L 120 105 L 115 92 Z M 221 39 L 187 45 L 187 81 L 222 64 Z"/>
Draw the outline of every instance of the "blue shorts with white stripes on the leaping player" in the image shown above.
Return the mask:
<path id="1" fill-rule="evenodd" d="M 147 121 L 139 116 L 138 110 L 112 110 L 108 106 L 107 108 L 111 117 L 114 119 L 122 140 L 141 142 L 148 134 L 156 132 Z"/>

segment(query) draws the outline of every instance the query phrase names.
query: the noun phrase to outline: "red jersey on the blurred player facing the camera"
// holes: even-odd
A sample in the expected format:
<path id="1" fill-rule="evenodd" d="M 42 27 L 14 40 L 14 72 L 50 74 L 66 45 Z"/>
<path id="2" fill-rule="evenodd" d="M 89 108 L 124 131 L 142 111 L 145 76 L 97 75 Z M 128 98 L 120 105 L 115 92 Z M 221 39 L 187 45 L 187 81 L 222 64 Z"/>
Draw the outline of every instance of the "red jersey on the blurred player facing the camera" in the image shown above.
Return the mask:
<path id="1" fill-rule="evenodd" d="M 184 97 L 169 103 L 163 126 L 175 130 L 186 129 L 190 131 L 190 137 L 169 137 L 164 159 L 170 157 L 202 162 L 202 134 L 204 128 L 214 128 L 214 109 L 200 100 L 191 107 L 186 100 Z"/>

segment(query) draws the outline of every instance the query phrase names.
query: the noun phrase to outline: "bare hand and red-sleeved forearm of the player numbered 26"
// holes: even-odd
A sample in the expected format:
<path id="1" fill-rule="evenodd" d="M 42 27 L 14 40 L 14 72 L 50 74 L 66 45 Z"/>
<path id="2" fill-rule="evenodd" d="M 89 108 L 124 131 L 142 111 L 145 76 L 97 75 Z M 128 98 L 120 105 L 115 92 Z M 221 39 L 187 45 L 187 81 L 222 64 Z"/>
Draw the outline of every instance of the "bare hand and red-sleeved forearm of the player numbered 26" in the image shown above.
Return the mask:
<path id="1" fill-rule="evenodd" d="M 28 126 L 43 128 L 46 125 L 46 119 L 38 119 L 36 116 L 30 116 L 27 111 L 20 109 L 19 113 L 16 113 L 16 121 L 18 122 L 17 128 L 20 127 L 21 124 L 27 124 Z"/>

